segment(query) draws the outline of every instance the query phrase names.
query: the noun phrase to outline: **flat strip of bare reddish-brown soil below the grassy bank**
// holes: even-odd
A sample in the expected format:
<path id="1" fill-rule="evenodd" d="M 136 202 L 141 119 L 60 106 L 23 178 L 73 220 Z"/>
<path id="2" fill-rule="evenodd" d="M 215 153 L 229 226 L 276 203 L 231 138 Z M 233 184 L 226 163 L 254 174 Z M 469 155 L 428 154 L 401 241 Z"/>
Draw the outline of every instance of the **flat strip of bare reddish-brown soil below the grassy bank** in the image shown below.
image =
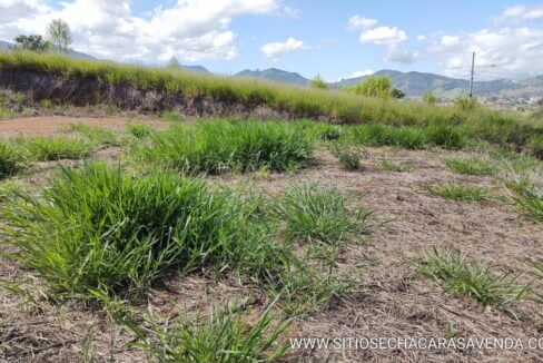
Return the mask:
<path id="1" fill-rule="evenodd" d="M 170 122 L 159 119 L 38 116 L 0 120 L 0 136 L 53 136 L 72 124 L 85 124 L 111 130 L 124 130 L 128 124 L 146 124 L 157 129 L 166 129 L 170 125 Z"/>

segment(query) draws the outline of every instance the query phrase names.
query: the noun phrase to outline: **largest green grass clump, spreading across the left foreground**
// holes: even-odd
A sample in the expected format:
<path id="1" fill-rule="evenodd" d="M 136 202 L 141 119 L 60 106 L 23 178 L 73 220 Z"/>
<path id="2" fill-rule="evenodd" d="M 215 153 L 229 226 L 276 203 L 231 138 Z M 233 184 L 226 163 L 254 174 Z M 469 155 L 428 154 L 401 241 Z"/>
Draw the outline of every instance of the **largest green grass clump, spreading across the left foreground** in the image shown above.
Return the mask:
<path id="1" fill-rule="evenodd" d="M 258 200 L 102 164 L 62 168 L 42 194 L 3 207 L 3 233 L 20 251 L 14 258 L 60 296 L 132 295 L 171 267 L 274 275 L 275 244 L 255 217 Z"/>

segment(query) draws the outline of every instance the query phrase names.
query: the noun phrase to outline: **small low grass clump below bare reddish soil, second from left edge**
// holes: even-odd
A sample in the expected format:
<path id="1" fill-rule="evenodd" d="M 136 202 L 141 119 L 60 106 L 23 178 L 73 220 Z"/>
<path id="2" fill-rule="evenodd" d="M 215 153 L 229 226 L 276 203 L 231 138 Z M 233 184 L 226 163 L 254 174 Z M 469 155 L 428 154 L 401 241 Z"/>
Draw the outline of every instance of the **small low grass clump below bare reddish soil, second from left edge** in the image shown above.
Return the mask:
<path id="1" fill-rule="evenodd" d="M 38 161 L 80 159 L 93 149 L 93 144 L 83 138 L 29 137 L 20 141 L 30 157 Z"/>

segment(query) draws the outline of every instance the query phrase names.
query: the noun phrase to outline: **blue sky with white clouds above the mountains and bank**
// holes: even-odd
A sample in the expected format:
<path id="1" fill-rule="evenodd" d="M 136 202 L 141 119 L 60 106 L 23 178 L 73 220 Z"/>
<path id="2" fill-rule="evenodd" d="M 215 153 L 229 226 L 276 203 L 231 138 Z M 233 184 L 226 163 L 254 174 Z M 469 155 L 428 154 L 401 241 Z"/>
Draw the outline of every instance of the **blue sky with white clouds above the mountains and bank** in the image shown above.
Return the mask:
<path id="1" fill-rule="evenodd" d="M 475 51 L 480 80 L 543 75 L 542 0 L 0 0 L 0 40 L 59 18 L 71 48 L 122 62 L 467 78 Z"/>

